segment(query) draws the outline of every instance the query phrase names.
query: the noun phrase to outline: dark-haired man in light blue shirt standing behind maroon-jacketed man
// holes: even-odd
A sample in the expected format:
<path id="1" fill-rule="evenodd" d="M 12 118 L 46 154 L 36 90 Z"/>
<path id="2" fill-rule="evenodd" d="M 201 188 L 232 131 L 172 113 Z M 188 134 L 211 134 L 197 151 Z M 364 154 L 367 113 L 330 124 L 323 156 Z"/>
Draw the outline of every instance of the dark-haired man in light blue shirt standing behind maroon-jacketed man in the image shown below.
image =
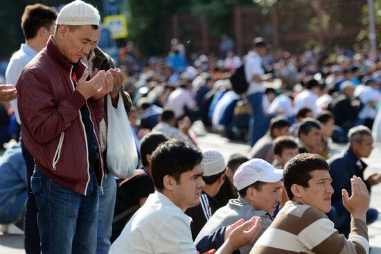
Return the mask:
<path id="1" fill-rule="evenodd" d="M 6 69 L 6 82 L 15 86 L 17 79 L 24 66 L 37 55 L 39 51 L 46 46 L 49 36 L 54 34 L 55 19 L 57 12 L 48 6 L 36 3 L 26 6 L 24 14 L 21 17 L 21 28 L 25 37 L 25 44 L 21 44 L 19 51 L 14 53 Z M 15 90 L 15 94 L 16 90 Z M 19 111 L 17 110 L 17 99 L 10 102 L 17 123 L 21 125 Z M 27 254 L 40 253 L 39 248 L 39 230 L 37 225 L 37 206 L 35 197 L 30 188 L 30 177 L 35 168 L 33 156 L 26 149 L 21 138 L 21 148 L 24 160 L 26 162 L 26 179 L 28 182 L 28 199 L 26 201 L 25 224 L 24 224 L 24 244 Z"/>

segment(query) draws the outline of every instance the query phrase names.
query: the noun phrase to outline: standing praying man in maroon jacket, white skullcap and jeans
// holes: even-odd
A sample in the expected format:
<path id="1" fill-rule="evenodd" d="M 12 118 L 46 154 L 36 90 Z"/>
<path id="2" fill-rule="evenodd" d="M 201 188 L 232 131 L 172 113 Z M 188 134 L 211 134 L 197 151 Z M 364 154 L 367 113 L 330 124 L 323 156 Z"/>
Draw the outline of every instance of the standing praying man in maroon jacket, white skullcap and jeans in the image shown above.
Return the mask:
<path id="1" fill-rule="evenodd" d="M 95 253 L 103 159 L 98 123 L 110 71 L 89 81 L 80 59 L 96 44 L 99 12 L 76 0 L 62 8 L 55 34 L 17 82 L 24 143 L 35 158 L 31 179 L 42 253 Z"/>

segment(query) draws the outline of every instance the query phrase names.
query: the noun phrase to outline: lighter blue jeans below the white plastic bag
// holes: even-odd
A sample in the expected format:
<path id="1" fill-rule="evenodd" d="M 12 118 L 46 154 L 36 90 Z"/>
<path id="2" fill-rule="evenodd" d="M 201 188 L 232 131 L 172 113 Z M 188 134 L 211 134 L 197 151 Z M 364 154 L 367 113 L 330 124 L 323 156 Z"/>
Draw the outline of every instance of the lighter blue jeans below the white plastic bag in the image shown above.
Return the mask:
<path id="1" fill-rule="evenodd" d="M 99 191 L 97 254 L 109 253 L 111 246 L 112 219 L 116 200 L 116 179 L 112 174 L 105 174 L 103 178 L 103 193 Z"/>

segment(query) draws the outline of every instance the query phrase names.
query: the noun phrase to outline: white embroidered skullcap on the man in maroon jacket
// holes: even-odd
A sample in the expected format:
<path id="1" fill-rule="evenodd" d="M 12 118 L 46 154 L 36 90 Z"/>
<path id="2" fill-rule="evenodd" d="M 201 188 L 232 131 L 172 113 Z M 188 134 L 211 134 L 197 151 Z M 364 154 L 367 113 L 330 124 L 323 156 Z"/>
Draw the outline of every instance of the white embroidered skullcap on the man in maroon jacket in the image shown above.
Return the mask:
<path id="1" fill-rule="evenodd" d="M 99 11 L 84 1 L 76 0 L 68 3 L 58 14 L 56 25 L 82 26 L 100 25 Z"/>

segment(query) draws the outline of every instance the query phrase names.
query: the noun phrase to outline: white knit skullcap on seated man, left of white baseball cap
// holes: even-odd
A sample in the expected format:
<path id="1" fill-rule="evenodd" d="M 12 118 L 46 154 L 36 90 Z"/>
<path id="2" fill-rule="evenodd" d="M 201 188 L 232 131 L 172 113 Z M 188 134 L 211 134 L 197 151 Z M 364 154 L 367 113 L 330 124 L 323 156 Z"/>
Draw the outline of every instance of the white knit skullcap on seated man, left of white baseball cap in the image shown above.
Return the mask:
<path id="1" fill-rule="evenodd" d="M 225 170 L 224 156 L 217 150 L 208 150 L 202 153 L 201 166 L 204 169 L 203 176 L 213 176 Z"/>

